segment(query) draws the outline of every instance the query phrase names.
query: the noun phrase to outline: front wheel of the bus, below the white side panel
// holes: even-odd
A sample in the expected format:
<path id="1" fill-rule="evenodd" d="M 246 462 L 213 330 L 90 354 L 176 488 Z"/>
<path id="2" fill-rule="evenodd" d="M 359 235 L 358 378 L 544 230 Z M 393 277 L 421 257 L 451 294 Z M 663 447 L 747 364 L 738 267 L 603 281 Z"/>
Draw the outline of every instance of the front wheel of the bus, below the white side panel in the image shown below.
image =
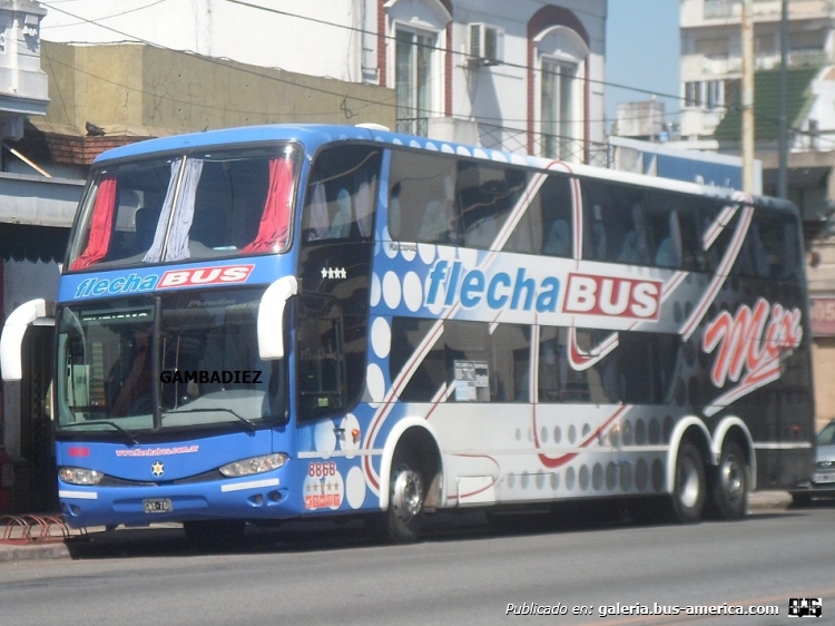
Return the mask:
<path id="1" fill-rule="evenodd" d="M 414 450 L 399 446 L 392 458 L 389 509 L 380 520 L 381 538 L 393 544 L 412 544 L 423 526 L 426 480 Z"/>

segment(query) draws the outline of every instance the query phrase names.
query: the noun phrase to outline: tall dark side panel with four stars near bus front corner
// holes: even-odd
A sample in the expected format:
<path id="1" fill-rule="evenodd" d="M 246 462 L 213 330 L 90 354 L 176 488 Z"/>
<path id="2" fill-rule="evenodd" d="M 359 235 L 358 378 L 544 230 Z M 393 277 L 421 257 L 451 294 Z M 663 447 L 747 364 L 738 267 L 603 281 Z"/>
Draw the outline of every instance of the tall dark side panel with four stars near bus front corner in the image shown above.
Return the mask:
<path id="1" fill-rule="evenodd" d="M 316 402 L 328 404 L 317 404 L 307 413 L 311 418 L 348 410 L 364 390 L 381 163 L 382 150 L 376 146 L 325 148 L 316 156 L 308 178 L 302 215 L 296 354 L 299 365 L 304 365 L 302 360 L 307 365 L 315 361 L 317 368 L 325 369 L 343 363 L 345 373 L 338 402 L 333 398 L 335 374 L 323 370 L 321 376 L 313 376 L 317 378 L 315 384 L 324 385 L 320 390 L 324 395 Z M 312 355 L 315 359 L 306 358 Z M 303 384 L 306 383 L 299 380 Z M 298 391 L 299 398 L 320 392 L 304 388 Z M 299 409 L 304 412 L 304 407 Z"/>

